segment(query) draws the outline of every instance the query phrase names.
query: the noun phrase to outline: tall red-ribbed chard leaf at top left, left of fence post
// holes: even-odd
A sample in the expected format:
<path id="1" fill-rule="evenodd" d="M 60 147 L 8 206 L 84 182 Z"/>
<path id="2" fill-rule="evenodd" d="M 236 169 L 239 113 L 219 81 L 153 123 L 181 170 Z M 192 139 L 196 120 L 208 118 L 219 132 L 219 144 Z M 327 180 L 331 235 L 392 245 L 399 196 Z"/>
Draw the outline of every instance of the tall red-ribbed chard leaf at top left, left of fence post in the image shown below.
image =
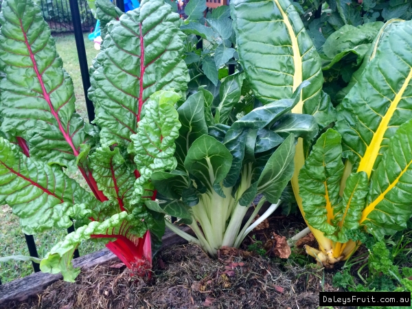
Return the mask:
<path id="1" fill-rule="evenodd" d="M 49 26 L 32 0 L 3 1 L 0 24 L 1 130 L 23 137 L 32 157 L 68 165 L 86 139 L 84 122 Z"/>

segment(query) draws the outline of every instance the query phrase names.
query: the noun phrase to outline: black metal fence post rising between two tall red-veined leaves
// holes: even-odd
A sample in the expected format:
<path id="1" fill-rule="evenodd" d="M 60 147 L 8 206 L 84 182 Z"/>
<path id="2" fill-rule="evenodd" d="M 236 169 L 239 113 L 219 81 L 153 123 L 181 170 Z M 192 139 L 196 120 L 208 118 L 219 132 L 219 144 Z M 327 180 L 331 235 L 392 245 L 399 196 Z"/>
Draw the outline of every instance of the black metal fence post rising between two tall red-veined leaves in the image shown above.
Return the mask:
<path id="1" fill-rule="evenodd" d="M 82 82 L 84 90 L 84 99 L 86 100 L 87 115 L 89 122 L 95 118 L 94 106 L 91 100 L 87 98 L 87 90 L 90 88 L 89 66 L 87 65 L 86 49 L 84 47 L 84 39 L 82 32 L 82 23 L 80 21 L 80 12 L 78 0 L 69 0 L 71 19 L 73 21 L 74 38 L 76 39 L 76 47 L 78 50 L 80 73 L 82 73 Z"/>

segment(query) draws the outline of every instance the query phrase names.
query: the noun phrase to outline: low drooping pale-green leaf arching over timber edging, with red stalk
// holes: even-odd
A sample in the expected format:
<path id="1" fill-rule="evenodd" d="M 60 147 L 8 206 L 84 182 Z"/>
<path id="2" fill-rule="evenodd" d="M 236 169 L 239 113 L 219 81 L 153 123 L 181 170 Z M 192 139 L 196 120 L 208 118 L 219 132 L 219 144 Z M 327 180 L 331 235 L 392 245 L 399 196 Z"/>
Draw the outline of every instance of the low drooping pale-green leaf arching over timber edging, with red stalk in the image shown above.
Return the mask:
<path id="1" fill-rule="evenodd" d="M 132 215 L 126 211 L 115 214 L 103 222 L 93 221 L 89 225 L 79 227 L 73 233 L 69 233 L 65 240 L 58 242 L 52 250 L 47 253 L 41 261 L 41 271 L 45 273 L 62 273 L 63 279 L 68 282 L 74 282 L 74 279 L 80 273 L 80 268 L 73 268 L 71 258 L 74 250 L 82 240 L 90 238 L 100 238 L 102 240 L 117 240 L 123 242 L 126 246 L 122 247 L 122 255 L 119 256 L 123 262 L 128 263 L 130 258 L 128 254 L 135 258 L 141 257 L 142 238 L 144 231 L 139 231 L 138 227 L 144 225 L 139 220 L 135 220 Z M 137 262 L 137 261 L 136 261 Z M 128 264 L 130 267 L 130 264 Z"/>

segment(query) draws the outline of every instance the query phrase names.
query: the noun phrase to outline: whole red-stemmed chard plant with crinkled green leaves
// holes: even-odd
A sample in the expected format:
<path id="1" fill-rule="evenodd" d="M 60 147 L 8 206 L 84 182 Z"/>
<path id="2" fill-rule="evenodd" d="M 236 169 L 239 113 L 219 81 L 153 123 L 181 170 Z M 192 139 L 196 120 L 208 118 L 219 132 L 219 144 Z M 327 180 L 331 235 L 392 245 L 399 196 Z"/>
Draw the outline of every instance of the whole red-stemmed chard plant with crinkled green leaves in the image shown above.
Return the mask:
<path id="1" fill-rule="evenodd" d="M 93 239 L 147 275 L 151 240 L 159 244 L 165 224 L 144 201 L 156 198 L 152 172 L 176 167 L 174 105 L 187 89 L 179 15 L 150 0 L 108 23 L 89 91 L 97 126 L 75 111 L 71 78 L 38 6 L 3 1 L 0 24 L 0 203 L 12 207 L 25 233 L 75 221 L 42 271 L 73 282 L 80 272 L 73 251 Z M 65 168 L 80 170 L 91 192 Z"/>

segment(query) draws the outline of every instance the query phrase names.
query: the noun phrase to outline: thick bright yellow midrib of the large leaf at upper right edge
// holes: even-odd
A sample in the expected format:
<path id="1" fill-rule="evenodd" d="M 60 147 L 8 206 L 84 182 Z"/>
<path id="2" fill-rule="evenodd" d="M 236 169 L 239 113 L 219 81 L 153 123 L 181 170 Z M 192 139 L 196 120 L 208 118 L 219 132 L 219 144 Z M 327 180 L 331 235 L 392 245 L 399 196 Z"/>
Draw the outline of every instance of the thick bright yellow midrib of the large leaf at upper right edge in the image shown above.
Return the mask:
<path id="1" fill-rule="evenodd" d="M 372 137 L 370 144 L 366 148 L 365 155 L 363 155 L 361 161 L 359 162 L 358 172 L 366 172 L 368 178 L 371 176 L 371 172 L 374 168 L 376 158 L 379 155 L 380 144 L 382 144 L 383 137 L 389 126 L 389 121 L 391 120 L 393 113 L 395 113 L 396 108 L 398 107 L 398 103 L 402 99 L 402 95 L 404 94 L 404 91 L 407 89 L 408 84 L 411 81 L 411 78 L 412 68 L 410 69 L 409 75 L 402 84 L 400 91 L 396 94 L 395 98 L 391 102 L 391 105 L 389 106 L 387 113 L 384 117 L 382 117 L 378 129 L 374 133 L 374 137 Z"/>

